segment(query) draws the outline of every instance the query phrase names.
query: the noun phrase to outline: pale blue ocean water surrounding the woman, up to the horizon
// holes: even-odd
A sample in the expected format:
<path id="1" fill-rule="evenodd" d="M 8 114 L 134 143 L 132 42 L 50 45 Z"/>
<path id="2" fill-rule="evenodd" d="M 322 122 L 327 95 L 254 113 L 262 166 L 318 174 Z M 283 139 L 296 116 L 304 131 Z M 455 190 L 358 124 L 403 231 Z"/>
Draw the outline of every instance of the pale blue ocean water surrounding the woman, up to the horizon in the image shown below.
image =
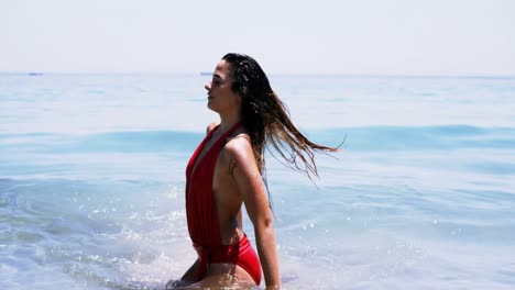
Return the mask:
<path id="1" fill-rule="evenodd" d="M 344 141 L 313 181 L 267 155 L 284 289 L 515 289 L 515 78 L 270 79 L 307 136 Z M 0 75 L 0 289 L 184 274 L 207 81 Z"/>

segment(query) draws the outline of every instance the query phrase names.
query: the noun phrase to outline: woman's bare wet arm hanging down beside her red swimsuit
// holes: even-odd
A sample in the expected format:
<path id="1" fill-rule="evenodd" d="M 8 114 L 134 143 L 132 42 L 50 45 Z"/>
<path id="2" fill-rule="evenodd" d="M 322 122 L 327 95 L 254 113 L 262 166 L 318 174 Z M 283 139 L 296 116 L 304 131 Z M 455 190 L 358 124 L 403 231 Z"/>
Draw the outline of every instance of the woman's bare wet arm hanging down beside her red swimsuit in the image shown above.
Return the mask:
<path id="1" fill-rule="evenodd" d="M 226 145 L 234 160 L 232 176 L 241 192 L 246 212 L 254 225 L 258 253 L 267 289 L 280 289 L 281 276 L 273 216 L 269 199 L 254 159 L 251 144 L 246 138 L 233 138 Z"/>

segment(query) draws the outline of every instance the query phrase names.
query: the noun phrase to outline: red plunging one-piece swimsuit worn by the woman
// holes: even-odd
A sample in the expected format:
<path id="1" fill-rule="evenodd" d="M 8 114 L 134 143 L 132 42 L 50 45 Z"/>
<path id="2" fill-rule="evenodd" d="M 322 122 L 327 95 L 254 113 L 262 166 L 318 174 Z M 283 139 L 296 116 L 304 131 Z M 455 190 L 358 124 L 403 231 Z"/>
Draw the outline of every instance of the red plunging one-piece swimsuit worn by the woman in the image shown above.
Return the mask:
<path id="1" fill-rule="evenodd" d="M 261 264 L 246 235 L 238 244 L 222 245 L 215 193 L 212 191 L 212 177 L 218 155 L 226 144 L 227 137 L 239 126 L 239 123 L 232 126 L 212 144 L 201 159 L 197 160 L 206 142 L 218 130 L 218 126 L 211 130 L 193 154 L 186 168 L 186 216 L 188 231 L 200 259 L 197 281 L 202 279 L 208 264 L 229 263 L 245 269 L 256 285 L 261 282 Z"/>

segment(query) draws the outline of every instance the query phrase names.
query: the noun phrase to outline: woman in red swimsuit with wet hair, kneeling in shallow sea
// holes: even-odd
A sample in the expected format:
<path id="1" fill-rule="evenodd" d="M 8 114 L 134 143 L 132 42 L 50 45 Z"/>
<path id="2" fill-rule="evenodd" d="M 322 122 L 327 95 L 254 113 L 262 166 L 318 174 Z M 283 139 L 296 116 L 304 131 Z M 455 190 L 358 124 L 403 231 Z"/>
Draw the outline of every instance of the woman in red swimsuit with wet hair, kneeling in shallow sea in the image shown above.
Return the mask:
<path id="1" fill-rule="evenodd" d="M 167 288 L 255 286 L 262 268 L 266 289 L 280 289 L 273 219 L 262 178 L 264 148 L 272 145 L 308 176 L 317 175 L 314 150 L 337 148 L 317 145 L 298 132 L 250 56 L 223 56 L 205 88 L 208 108 L 220 122 L 208 126 L 186 169 L 186 215 L 198 258 Z M 259 257 L 242 230 L 242 204 L 254 225 Z"/>

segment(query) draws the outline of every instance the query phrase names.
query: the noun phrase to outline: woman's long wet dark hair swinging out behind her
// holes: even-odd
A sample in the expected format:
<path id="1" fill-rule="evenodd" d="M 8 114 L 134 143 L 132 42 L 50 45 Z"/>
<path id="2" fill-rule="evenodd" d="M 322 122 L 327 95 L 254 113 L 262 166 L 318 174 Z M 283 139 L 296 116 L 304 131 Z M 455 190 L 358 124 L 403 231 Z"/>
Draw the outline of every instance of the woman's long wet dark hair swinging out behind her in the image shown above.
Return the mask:
<path id="1" fill-rule="evenodd" d="M 231 65 L 232 90 L 242 98 L 241 122 L 249 132 L 261 174 L 265 170 L 264 149 L 271 145 L 291 167 L 309 178 L 318 176 L 314 153 L 337 152 L 338 147 L 313 143 L 295 127 L 286 105 L 272 90 L 269 78 L 254 58 L 230 53 L 222 59 Z"/>

